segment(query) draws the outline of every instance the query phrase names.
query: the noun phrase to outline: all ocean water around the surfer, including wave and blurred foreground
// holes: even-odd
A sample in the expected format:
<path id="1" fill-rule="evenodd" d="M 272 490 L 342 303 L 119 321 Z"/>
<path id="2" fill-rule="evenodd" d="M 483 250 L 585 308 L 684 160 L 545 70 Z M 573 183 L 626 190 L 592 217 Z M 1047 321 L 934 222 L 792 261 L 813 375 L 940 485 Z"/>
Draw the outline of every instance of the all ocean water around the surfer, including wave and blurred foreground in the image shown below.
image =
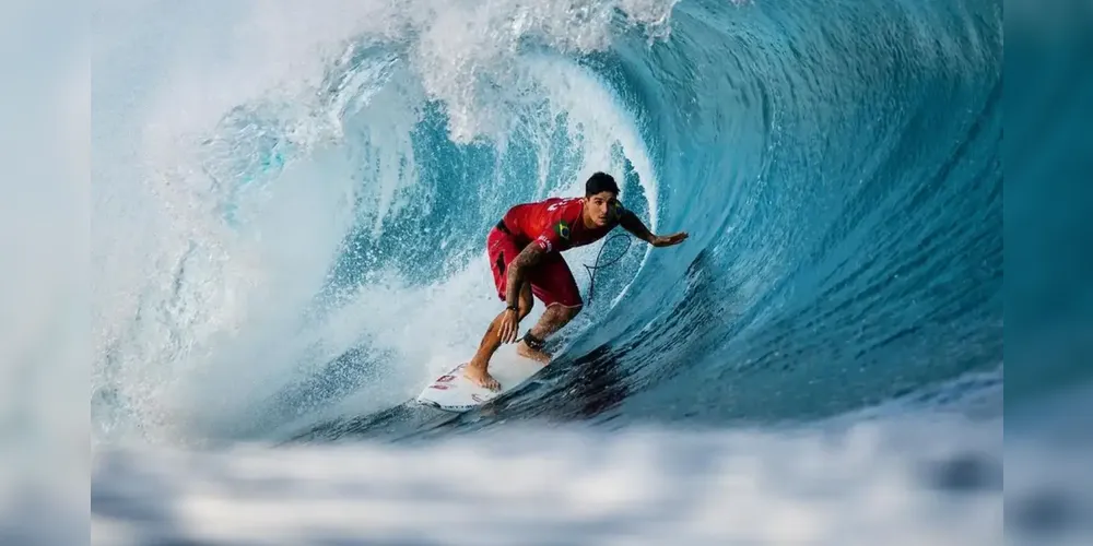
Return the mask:
<path id="1" fill-rule="evenodd" d="M 1031 416 L 1003 499 L 1000 2 L 91 21 L 93 544 L 1088 532 L 1035 381 L 1004 388 Z M 537 388 L 409 403 L 501 308 L 489 227 L 597 170 L 689 240 L 567 252 L 588 302 Z"/>

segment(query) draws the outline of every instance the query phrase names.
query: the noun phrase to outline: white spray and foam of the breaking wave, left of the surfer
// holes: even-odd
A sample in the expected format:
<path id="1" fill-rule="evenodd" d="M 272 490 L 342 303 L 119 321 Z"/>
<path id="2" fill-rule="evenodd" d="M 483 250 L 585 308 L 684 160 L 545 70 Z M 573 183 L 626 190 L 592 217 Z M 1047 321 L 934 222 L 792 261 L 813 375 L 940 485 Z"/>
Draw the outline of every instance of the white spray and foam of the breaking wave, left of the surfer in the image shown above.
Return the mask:
<path id="1" fill-rule="evenodd" d="M 444 105 L 453 141 L 500 149 L 529 111 L 564 112 L 576 178 L 505 182 L 572 194 L 592 170 L 622 173 L 621 146 L 655 215 L 635 120 L 587 69 L 534 46 L 608 47 L 620 15 L 656 35 L 673 3 L 96 4 L 95 441 L 252 432 L 266 402 L 362 343 L 391 365 L 353 399 L 366 413 L 473 349 L 497 310 L 484 251 L 437 286 L 375 272 L 327 322 L 305 320 L 345 236 L 383 237 L 407 205 L 426 100 Z M 357 47 L 380 52 L 354 66 Z"/>

